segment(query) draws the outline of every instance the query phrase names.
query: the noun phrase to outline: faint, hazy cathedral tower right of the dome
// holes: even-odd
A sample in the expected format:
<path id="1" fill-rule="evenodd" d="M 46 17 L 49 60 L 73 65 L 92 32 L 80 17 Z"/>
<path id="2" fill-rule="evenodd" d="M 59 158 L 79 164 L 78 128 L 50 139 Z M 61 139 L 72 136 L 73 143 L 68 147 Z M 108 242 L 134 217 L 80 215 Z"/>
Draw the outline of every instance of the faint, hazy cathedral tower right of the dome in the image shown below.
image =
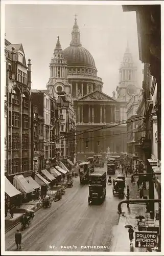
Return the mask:
<path id="1" fill-rule="evenodd" d="M 128 102 L 131 96 L 138 94 L 140 90 L 137 87 L 137 67 L 134 65 L 128 43 L 119 71 L 120 81 L 116 88 L 116 96 L 119 101 Z"/>

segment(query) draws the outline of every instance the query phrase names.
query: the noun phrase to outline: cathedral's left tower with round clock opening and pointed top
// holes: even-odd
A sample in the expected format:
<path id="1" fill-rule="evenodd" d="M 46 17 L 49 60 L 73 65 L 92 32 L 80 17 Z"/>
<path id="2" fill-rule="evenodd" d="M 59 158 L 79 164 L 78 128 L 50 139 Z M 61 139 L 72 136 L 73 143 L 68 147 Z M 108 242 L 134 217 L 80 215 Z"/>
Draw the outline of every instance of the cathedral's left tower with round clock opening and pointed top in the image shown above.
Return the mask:
<path id="1" fill-rule="evenodd" d="M 50 62 L 50 79 L 46 87 L 49 94 L 56 99 L 60 92 L 65 92 L 67 95 L 71 93 L 71 85 L 67 80 L 67 60 L 63 56 L 59 36 Z"/>

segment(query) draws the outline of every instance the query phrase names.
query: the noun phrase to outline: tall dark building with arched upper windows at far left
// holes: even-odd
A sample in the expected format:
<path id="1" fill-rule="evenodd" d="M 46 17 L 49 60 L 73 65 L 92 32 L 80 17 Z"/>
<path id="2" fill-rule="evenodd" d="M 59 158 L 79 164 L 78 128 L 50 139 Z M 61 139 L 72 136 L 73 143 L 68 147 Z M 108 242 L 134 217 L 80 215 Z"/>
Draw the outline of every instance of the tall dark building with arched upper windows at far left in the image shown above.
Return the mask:
<path id="1" fill-rule="evenodd" d="M 6 55 L 6 175 L 31 171 L 31 60 L 26 65 L 21 44 L 5 39 Z"/>

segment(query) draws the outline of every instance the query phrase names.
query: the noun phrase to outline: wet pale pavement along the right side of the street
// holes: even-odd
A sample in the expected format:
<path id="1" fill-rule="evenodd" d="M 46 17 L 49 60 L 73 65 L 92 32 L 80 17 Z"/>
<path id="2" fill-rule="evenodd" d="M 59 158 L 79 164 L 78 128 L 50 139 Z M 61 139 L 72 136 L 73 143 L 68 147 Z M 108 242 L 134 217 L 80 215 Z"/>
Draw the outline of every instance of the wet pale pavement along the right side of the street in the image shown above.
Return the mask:
<path id="1" fill-rule="evenodd" d="M 126 185 L 129 185 L 130 189 L 130 199 L 137 199 L 139 197 L 137 184 L 131 184 L 131 177 L 127 176 Z M 126 200 L 126 197 L 125 197 Z M 135 248 L 135 231 L 138 229 L 134 229 L 134 240 L 133 244 L 130 245 L 129 241 L 129 233 L 128 228 L 125 228 L 125 225 L 132 225 L 135 227 L 137 225 L 137 220 L 135 217 L 137 215 L 145 216 L 145 206 L 144 205 L 135 205 L 130 204 L 129 210 L 127 208 L 127 204 L 122 204 L 122 212 L 124 212 L 124 216 L 120 216 L 118 226 L 115 226 L 113 229 L 113 241 L 110 251 L 120 251 L 120 252 L 132 252 L 132 251 L 146 251 L 145 248 Z"/>

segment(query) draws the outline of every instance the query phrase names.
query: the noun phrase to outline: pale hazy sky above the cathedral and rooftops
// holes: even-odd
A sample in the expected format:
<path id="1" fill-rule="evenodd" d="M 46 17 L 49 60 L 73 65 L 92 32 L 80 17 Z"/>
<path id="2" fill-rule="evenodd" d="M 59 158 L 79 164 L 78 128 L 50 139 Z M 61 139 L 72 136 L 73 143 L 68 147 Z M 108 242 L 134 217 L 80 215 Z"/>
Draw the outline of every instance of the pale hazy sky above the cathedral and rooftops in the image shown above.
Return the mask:
<path id="1" fill-rule="evenodd" d="M 26 61 L 31 59 L 32 89 L 46 89 L 57 36 L 64 50 L 71 42 L 75 14 L 82 46 L 95 59 L 97 75 L 103 79 L 103 92 L 112 95 L 118 86 L 127 41 L 142 87 L 135 12 L 123 12 L 121 5 L 6 5 L 6 39 L 21 43 Z"/>

